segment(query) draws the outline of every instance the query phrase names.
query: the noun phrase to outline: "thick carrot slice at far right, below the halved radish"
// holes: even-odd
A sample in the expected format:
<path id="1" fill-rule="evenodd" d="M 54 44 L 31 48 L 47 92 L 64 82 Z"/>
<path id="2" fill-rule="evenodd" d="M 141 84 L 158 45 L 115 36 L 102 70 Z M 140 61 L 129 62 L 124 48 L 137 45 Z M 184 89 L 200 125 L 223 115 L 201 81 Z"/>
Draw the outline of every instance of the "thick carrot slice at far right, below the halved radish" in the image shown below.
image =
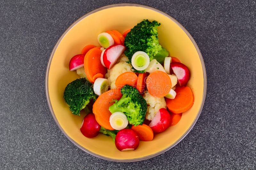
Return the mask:
<path id="1" fill-rule="evenodd" d="M 194 97 L 191 89 L 187 86 L 176 87 L 176 97 L 165 99 L 168 109 L 175 114 L 183 113 L 194 104 Z"/>

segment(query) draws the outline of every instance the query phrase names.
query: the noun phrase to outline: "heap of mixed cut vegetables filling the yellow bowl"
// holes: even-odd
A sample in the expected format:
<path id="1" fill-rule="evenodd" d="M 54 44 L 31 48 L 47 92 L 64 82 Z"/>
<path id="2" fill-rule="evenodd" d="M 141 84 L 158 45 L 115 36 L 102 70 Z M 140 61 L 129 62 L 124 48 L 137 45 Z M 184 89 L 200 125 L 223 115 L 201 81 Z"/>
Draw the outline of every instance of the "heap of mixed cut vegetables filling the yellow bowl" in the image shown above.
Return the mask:
<path id="1" fill-rule="evenodd" d="M 69 69 L 81 78 L 67 85 L 64 99 L 73 114 L 87 113 L 84 136 L 103 133 L 118 150 L 134 150 L 192 107 L 189 69 L 159 44 L 158 26 L 147 19 L 123 34 L 102 32 L 100 46 L 87 45 L 71 58 Z"/>

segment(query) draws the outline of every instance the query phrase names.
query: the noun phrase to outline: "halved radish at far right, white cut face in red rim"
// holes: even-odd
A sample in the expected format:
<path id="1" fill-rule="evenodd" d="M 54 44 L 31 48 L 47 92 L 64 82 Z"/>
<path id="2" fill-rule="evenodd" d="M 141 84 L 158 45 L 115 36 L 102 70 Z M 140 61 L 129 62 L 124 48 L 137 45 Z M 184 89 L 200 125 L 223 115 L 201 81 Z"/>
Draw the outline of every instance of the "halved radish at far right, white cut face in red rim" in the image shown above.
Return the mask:
<path id="1" fill-rule="evenodd" d="M 187 84 L 190 78 L 190 72 L 187 66 L 179 62 L 171 63 L 172 72 L 177 76 L 180 86 Z"/>

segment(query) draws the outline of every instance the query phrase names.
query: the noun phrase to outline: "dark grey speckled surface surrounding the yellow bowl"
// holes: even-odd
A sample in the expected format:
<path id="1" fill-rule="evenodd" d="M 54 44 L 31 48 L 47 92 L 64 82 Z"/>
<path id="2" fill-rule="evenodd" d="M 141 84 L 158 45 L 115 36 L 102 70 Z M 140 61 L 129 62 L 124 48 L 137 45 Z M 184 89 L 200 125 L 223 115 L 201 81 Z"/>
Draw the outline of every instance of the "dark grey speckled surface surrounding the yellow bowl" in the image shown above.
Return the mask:
<path id="1" fill-rule="evenodd" d="M 132 163 L 76 147 L 55 124 L 45 97 L 47 62 L 62 33 L 87 12 L 124 2 L 157 8 L 180 22 L 207 71 L 204 108 L 188 136 L 155 158 Z M 255 0 L 0 4 L 0 169 L 256 169 Z"/>

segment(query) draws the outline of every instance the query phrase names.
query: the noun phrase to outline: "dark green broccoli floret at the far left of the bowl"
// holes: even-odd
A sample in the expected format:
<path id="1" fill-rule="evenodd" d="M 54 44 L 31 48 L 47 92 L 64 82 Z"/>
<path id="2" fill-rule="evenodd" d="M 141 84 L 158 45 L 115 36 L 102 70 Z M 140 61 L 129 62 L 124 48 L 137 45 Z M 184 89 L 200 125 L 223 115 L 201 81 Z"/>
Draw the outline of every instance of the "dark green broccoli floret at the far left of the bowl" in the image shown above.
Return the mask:
<path id="1" fill-rule="evenodd" d="M 84 109 L 91 100 L 95 101 L 97 97 L 92 89 L 92 83 L 85 78 L 72 81 L 64 91 L 64 99 L 69 110 L 79 116 L 80 110 Z"/>

